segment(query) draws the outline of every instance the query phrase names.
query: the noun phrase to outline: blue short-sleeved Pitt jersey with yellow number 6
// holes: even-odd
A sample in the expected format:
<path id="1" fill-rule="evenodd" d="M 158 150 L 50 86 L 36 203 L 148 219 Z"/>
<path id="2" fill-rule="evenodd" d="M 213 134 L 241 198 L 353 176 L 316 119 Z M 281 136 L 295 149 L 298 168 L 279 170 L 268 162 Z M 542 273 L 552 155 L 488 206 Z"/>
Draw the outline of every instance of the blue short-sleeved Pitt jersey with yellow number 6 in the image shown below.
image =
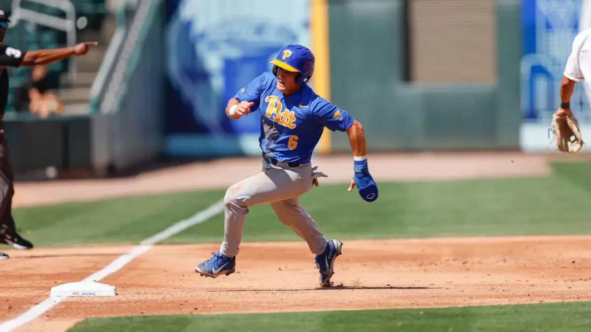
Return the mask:
<path id="1" fill-rule="evenodd" d="M 234 96 L 239 102 L 254 102 L 250 116 L 261 112 L 259 145 L 269 157 L 279 161 L 310 162 L 324 127 L 346 131 L 353 118 L 303 86 L 289 96 L 277 90 L 277 78 L 265 72 Z"/>

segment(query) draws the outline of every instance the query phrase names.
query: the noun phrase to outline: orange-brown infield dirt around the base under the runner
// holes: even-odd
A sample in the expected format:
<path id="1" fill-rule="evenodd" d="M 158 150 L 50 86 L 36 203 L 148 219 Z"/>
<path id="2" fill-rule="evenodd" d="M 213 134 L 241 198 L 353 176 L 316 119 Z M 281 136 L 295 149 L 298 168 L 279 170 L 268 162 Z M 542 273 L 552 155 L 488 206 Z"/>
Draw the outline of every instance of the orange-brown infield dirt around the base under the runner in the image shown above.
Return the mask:
<path id="1" fill-rule="evenodd" d="M 235 274 L 200 277 L 193 266 L 216 248 L 157 246 L 102 281 L 115 285 L 118 296 L 68 298 L 26 330 L 65 330 L 85 317 L 104 315 L 591 300 L 591 237 L 584 236 L 349 241 L 330 288 L 318 287 L 313 255 L 303 242 L 243 244 Z M 14 259 L 0 264 L 3 284 L 11 285 L 0 290 L 0 298 L 9 299 L 0 304 L 0 320 L 22 313 L 45 300 L 51 286 L 80 280 L 126 249 L 11 251 Z"/>

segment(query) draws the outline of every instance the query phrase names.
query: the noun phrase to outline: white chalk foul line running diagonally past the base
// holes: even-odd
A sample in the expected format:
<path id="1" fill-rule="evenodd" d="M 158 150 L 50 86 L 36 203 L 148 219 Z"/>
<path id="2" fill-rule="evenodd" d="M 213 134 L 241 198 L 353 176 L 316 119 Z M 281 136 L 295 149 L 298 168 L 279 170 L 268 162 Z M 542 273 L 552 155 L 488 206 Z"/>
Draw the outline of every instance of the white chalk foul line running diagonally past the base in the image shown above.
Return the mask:
<path id="1" fill-rule="evenodd" d="M 157 233 L 152 237 L 148 237 L 148 239 L 143 240 L 141 243 L 139 243 L 139 245 L 129 250 L 128 253 L 124 253 L 123 255 L 119 256 L 117 259 L 115 259 L 115 261 L 112 261 L 109 263 L 109 265 L 105 266 L 105 268 L 88 276 L 83 281 L 99 281 L 100 279 L 103 279 L 106 276 L 119 271 L 119 269 L 123 268 L 127 263 L 133 261 L 138 256 L 150 250 L 156 243 L 168 239 L 171 236 L 177 235 L 191 226 L 203 223 L 222 211 L 223 200 L 212 204 L 203 211 L 197 212 L 189 219 L 181 220 L 180 222 L 173 224 L 162 232 Z M 47 298 L 47 300 L 40 302 L 18 317 L 0 324 L 0 332 L 12 331 L 15 328 L 21 327 L 35 320 L 37 317 L 43 315 L 64 299 L 65 298 Z"/>

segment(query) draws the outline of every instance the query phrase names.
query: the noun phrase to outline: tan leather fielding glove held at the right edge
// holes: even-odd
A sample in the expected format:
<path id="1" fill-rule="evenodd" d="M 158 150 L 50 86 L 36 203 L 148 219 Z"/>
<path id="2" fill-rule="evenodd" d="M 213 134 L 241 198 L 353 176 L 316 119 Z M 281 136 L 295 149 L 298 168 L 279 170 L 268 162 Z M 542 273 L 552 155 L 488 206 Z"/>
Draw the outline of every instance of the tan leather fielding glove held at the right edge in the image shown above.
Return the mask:
<path id="1" fill-rule="evenodd" d="M 552 115 L 550 131 L 556 139 L 556 146 L 562 152 L 579 152 L 583 147 L 583 136 L 579 129 L 579 121 L 570 115 Z M 550 134 L 548 132 L 548 134 Z"/>

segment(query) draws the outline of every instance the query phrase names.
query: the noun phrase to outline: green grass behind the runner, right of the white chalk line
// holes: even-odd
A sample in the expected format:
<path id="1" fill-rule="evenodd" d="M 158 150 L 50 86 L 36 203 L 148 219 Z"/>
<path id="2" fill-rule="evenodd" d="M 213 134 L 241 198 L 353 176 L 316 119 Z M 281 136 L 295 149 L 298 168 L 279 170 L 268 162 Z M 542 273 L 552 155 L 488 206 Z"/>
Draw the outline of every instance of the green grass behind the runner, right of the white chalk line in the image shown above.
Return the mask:
<path id="1" fill-rule="evenodd" d="M 321 185 L 300 203 L 329 237 L 343 239 L 591 233 L 591 193 L 556 177 L 441 183 L 381 183 L 366 203 L 348 185 Z M 223 217 L 167 242 L 214 239 Z M 269 206 L 246 216 L 245 241 L 294 240 Z"/>

